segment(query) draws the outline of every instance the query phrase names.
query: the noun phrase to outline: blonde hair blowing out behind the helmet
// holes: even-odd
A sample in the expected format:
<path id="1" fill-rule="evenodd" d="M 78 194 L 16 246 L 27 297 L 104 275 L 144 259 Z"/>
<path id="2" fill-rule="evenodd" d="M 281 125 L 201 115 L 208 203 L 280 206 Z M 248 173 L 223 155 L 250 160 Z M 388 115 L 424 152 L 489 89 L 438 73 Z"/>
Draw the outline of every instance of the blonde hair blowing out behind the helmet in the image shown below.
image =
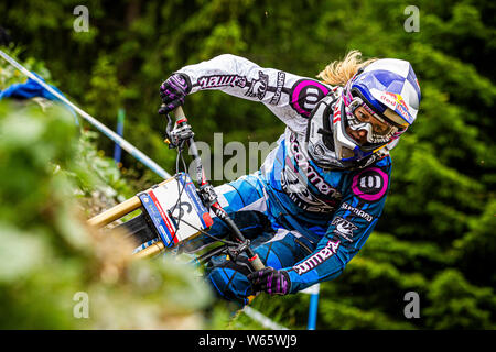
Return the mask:
<path id="1" fill-rule="evenodd" d="M 375 61 L 377 58 L 362 62 L 362 53 L 359 51 L 351 51 L 342 61 L 334 61 L 328 64 L 316 77 L 327 85 L 344 87 L 358 69 Z"/>

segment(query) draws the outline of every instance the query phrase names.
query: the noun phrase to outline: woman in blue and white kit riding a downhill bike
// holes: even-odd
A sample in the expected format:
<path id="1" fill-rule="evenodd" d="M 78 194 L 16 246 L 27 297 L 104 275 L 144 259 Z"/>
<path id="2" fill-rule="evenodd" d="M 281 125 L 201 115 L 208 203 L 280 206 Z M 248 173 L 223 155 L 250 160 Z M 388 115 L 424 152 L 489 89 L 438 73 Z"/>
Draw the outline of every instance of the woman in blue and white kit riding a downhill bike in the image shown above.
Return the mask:
<path id="1" fill-rule="evenodd" d="M 252 272 L 244 255 L 214 257 L 207 279 L 219 296 L 246 304 L 260 292 L 293 294 L 333 279 L 371 233 L 390 184 L 389 150 L 413 123 L 421 95 L 409 62 L 360 56 L 349 52 L 316 80 L 225 54 L 161 85 L 159 113 L 218 89 L 262 102 L 287 125 L 258 172 L 216 188 L 267 266 Z M 209 233 L 226 235 L 217 220 Z"/>

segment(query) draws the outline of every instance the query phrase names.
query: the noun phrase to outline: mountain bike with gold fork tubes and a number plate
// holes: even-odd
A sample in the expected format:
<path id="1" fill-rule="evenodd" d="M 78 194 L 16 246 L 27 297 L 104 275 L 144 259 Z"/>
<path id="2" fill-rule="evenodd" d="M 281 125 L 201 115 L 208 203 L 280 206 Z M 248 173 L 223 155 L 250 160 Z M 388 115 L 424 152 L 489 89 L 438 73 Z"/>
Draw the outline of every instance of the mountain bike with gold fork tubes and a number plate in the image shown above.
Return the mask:
<path id="1" fill-rule="evenodd" d="M 106 228 L 116 220 L 140 210 L 140 213 L 130 220 L 115 226 L 112 229 L 123 229 L 138 243 L 134 251 L 137 257 L 149 257 L 159 253 L 174 253 L 177 249 L 200 234 L 209 238 L 213 243 L 219 243 L 192 261 L 195 264 L 205 264 L 213 256 L 228 255 L 229 260 L 246 253 L 254 271 L 265 267 L 258 255 L 250 246 L 239 228 L 218 202 L 214 187 L 205 177 L 202 160 L 194 141 L 194 132 L 181 107 L 166 114 L 165 143 L 169 148 L 177 151 L 176 173 L 170 179 L 138 193 L 132 198 L 97 215 L 88 220 L 90 226 Z M 186 172 L 183 153 L 188 148 L 193 157 L 197 185 Z M 180 166 L 184 170 L 180 170 Z M 213 224 L 211 211 L 229 229 L 229 238 L 220 239 L 208 234 Z M 222 243 L 222 244 L 220 244 Z"/>

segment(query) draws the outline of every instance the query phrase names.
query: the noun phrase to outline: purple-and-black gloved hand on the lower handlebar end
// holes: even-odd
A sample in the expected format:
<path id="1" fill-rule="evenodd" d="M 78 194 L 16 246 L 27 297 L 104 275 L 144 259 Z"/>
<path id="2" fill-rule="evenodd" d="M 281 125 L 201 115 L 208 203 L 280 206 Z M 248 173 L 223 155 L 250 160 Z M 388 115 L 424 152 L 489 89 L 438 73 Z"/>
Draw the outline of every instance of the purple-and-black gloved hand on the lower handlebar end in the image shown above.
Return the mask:
<path id="1" fill-rule="evenodd" d="M 285 271 L 277 271 L 271 266 L 248 275 L 254 294 L 266 292 L 269 295 L 287 295 L 291 288 L 291 282 Z"/>

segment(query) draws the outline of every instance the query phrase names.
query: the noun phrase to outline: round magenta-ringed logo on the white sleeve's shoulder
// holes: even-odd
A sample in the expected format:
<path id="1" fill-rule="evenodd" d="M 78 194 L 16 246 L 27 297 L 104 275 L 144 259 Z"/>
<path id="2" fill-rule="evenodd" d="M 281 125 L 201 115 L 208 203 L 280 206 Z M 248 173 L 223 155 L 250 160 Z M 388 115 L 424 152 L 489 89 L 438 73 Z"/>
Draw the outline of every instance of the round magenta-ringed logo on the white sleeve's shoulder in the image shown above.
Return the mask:
<path id="1" fill-rule="evenodd" d="M 312 79 L 300 79 L 291 88 L 291 107 L 298 113 L 308 118 L 319 100 L 324 98 L 330 89 Z"/>

